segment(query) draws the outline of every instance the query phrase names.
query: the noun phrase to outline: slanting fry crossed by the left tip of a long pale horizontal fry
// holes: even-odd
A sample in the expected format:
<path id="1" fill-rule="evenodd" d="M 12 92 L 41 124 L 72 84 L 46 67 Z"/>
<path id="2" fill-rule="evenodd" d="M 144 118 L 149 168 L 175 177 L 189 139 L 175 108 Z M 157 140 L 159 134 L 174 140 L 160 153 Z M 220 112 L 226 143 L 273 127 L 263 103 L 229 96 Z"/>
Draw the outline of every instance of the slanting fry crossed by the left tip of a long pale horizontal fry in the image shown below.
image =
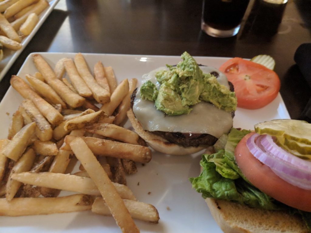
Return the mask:
<path id="1" fill-rule="evenodd" d="M 35 151 L 29 148 L 21 158 L 16 162 L 10 173 L 9 179 L 7 180 L 6 186 L 6 199 L 11 201 L 15 196 L 17 190 L 21 187 L 22 183 L 16 180 L 12 180 L 11 177 L 14 173 L 20 173 L 29 171 L 32 164 L 35 161 Z"/>

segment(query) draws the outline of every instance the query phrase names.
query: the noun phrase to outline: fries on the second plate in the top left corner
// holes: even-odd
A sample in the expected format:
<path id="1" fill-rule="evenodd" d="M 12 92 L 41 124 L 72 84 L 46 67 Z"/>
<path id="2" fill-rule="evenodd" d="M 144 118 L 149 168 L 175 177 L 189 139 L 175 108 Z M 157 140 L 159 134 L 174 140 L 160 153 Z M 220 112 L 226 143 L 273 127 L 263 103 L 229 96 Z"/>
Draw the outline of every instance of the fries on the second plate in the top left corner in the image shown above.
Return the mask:
<path id="1" fill-rule="evenodd" d="M 35 28 L 39 14 L 48 6 L 46 0 L 0 0 L 0 60 L 3 47 L 22 48 L 22 39 Z"/>

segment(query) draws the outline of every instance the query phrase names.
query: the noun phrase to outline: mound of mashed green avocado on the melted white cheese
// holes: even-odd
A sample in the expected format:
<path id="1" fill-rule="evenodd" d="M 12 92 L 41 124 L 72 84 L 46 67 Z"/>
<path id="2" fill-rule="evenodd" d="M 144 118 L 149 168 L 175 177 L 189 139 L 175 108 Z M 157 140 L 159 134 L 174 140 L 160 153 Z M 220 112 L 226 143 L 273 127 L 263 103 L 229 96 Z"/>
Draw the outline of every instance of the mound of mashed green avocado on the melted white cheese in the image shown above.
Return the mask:
<path id="1" fill-rule="evenodd" d="M 159 90 L 149 80 L 142 85 L 142 99 L 154 101 L 156 108 L 167 115 L 188 114 L 191 106 L 201 100 L 227 112 L 235 110 L 237 100 L 234 92 L 220 85 L 215 76 L 203 74 L 189 53 L 184 52 L 181 58 L 183 61 L 177 66 L 167 65 L 169 70 L 156 73 Z"/>

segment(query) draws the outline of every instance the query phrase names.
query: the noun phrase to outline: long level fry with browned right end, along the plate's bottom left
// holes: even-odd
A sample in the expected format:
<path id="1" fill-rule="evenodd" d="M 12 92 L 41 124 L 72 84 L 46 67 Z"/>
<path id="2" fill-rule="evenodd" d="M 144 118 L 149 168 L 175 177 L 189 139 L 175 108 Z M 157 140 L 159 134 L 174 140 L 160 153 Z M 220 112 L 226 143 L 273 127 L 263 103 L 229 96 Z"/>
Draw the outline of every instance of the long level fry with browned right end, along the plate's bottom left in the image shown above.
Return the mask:
<path id="1" fill-rule="evenodd" d="M 0 216 L 24 216 L 90 210 L 93 199 L 84 194 L 51 198 L 0 199 Z"/>

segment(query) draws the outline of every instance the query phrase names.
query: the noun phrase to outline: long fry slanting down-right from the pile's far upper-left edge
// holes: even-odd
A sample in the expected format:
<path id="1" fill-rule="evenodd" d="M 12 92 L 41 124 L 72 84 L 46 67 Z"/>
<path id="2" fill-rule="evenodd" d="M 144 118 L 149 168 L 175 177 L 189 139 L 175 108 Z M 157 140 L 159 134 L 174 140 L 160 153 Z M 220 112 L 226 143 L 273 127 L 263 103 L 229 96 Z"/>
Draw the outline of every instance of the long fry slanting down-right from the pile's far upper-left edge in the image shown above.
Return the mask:
<path id="1" fill-rule="evenodd" d="M 22 97 L 30 99 L 51 124 L 58 125 L 63 120 L 63 116 L 35 93 L 20 77 L 12 75 L 10 83 Z"/>

